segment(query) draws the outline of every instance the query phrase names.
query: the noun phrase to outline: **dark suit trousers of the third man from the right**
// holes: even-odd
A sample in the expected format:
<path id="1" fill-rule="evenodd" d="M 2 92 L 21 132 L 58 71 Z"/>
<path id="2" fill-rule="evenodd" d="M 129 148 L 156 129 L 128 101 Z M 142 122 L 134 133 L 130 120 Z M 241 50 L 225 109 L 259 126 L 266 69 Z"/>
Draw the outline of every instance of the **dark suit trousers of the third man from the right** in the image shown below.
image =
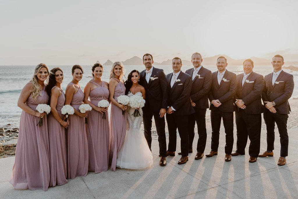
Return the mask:
<path id="1" fill-rule="evenodd" d="M 217 152 L 219 144 L 219 130 L 221 128 L 221 118 L 223 118 L 224 129 L 226 133 L 226 154 L 231 154 L 234 144 L 233 137 L 233 112 L 221 112 L 221 111 L 211 111 L 211 127 L 212 127 L 212 137 L 211 137 L 211 150 Z"/>

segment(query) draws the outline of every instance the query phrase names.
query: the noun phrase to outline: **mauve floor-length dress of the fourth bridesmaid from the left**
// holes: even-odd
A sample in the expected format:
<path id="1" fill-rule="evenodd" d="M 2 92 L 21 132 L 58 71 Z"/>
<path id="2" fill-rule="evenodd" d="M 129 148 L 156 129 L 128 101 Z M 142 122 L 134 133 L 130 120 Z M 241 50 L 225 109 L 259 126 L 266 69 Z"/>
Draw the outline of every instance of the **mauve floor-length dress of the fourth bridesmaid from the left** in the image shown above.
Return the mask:
<path id="1" fill-rule="evenodd" d="M 89 99 L 95 106 L 98 105 L 100 100 L 107 100 L 109 98 L 109 90 L 103 85 L 98 85 L 94 81 L 91 81 L 98 87 L 91 90 Z M 109 132 L 109 120 L 108 112 L 105 113 L 106 119 L 103 119 L 103 114 L 92 109 L 88 113 L 88 124 L 86 124 L 88 149 L 89 149 L 89 171 L 100 173 L 107 171 L 109 166 L 109 144 L 110 144 L 110 132 Z"/>

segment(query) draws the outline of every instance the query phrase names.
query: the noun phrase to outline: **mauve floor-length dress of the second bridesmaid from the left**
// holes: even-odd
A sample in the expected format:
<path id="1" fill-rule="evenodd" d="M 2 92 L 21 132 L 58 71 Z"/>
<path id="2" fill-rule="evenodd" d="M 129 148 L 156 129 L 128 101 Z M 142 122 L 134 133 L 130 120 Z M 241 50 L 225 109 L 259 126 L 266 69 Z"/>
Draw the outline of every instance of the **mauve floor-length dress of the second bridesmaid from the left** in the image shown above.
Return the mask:
<path id="1" fill-rule="evenodd" d="M 56 88 L 54 86 L 52 90 Z M 58 88 L 58 87 L 57 87 Z M 62 118 L 61 108 L 65 103 L 65 94 L 61 88 L 62 94 L 58 97 L 56 110 Z M 48 117 L 49 146 L 50 146 L 50 186 L 63 185 L 67 183 L 66 170 L 66 131 L 65 128 L 54 118 L 53 114 Z"/>

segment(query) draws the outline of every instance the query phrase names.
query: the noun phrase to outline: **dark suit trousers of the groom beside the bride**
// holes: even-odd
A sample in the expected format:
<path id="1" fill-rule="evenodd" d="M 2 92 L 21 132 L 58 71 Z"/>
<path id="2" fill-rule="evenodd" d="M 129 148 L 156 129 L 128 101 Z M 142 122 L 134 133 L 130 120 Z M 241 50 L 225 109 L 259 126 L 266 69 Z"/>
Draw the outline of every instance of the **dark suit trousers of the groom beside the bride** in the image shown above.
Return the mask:
<path id="1" fill-rule="evenodd" d="M 159 142 L 159 155 L 162 157 L 167 156 L 167 142 L 165 133 L 165 121 L 164 117 L 160 118 L 159 113 L 153 112 L 143 112 L 143 124 L 144 124 L 144 135 L 147 140 L 149 149 L 151 150 L 151 127 L 152 127 L 152 117 L 154 116 L 156 131 L 158 135 Z"/>

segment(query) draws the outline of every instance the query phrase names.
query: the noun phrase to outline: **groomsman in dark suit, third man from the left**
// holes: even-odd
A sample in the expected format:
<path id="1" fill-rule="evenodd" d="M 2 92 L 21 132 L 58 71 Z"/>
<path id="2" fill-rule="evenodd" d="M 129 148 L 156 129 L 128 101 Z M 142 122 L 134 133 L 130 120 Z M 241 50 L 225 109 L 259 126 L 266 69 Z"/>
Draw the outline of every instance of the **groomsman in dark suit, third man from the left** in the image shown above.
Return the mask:
<path id="1" fill-rule="evenodd" d="M 195 113 L 189 115 L 188 118 L 188 139 L 189 153 L 193 152 L 193 139 L 195 137 L 195 122 L 198 127 L 198 144 L 195 160 L 199 160 L 204 156 L 206 147 L 207 130 L 206 130 L 206 111 L 209 108 L 208 92 L 212 84 L 211 71 L 202 66 L 202 55 L 193 53 L 191 62 L 193 68 L 188 69 L 185 73 L 192 77 L 192 87 L 190 92 L 190 102 L 195 109 Z M 178 153 L 179 155 L 181 152 Z"/>

